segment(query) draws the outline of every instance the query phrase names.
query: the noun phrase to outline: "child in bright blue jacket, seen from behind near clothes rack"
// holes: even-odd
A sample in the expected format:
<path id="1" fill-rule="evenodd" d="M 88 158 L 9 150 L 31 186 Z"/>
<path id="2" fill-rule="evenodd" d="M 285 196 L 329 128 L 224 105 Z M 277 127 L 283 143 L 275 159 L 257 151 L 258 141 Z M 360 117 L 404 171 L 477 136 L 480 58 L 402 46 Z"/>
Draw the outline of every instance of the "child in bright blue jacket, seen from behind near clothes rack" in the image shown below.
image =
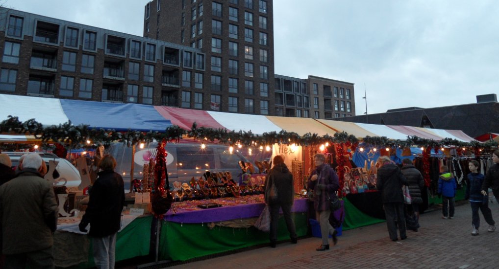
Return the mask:
<path id="1" fill-rule="evenodd" d="M 456 206 L 456 180 L 449 173 L 449 167 L 440 167 L 440 177 L 438 179 L 438 194 L 442 195 L 442 218 L 454 219 L 454 207 Z"/>

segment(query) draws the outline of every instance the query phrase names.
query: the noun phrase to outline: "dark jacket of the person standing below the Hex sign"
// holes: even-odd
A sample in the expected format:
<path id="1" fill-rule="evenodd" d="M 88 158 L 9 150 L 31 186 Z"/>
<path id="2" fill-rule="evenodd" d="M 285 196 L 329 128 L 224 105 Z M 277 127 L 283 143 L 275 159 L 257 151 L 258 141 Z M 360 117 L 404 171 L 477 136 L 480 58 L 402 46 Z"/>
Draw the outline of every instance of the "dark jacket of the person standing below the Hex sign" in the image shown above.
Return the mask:
<path id="1" fill-rule="evenodd" d="M 277 188 L 277 202 L 280 204 L 293 204 L 294 201 L 294 186 L 293 186 L 293 175 L 287 169 L 286 164 L 279 163 L 274 165 L 270 169 L 270 173 L 267 175 L 265 180 L 265 193 L 268 194 L 270 191 L 269 178 L 271 184 L 275 184 Z M 268 188 L 268 189 L 267 189 Z M 265 195 L 265 202 L 272 203 L 267 195 Z"/>

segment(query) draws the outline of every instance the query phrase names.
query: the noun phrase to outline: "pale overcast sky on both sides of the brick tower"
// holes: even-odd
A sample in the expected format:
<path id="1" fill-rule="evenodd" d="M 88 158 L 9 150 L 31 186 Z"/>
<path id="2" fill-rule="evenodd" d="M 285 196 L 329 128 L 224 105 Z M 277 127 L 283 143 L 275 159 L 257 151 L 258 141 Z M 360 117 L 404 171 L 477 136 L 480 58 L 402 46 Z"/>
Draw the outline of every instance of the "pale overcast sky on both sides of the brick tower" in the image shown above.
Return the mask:
<path id="1" fill-rule="evenodd" d="M 6 0 L 142 36 L 146 0 Z M 306 2 L 306 4 L 303 4 Z M 497 0 L 274 0 L 275 73 L 355 84 L 357 115 L 476 102 L 499 89 Z"/>

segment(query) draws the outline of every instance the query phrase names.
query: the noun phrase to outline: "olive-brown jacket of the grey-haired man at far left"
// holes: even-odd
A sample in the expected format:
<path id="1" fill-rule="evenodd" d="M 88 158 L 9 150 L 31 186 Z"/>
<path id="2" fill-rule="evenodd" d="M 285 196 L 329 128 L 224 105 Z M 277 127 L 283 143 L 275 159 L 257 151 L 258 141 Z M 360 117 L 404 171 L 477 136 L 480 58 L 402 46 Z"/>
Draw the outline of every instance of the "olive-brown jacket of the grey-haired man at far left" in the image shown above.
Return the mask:
<path id="1" fill-rule="evenodd" d="M 0 186 L 2 252 L 5 255 L 52 247 L 57 229 L 57 202 L 53 187 L 31 168 Z"/>

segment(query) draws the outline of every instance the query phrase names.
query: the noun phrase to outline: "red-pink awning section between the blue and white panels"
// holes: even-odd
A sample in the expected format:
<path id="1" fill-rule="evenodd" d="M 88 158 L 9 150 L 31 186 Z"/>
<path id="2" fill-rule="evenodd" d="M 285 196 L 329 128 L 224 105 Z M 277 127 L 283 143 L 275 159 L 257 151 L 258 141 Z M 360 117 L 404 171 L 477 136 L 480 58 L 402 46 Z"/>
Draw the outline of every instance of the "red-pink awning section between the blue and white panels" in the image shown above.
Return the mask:
<path id="1" fill-rule="evenodd" d="M 196 122 L 198 127 L 225 129 L 215 119 L 203 110 L 183 109 L 173 107 L 154 106 L 158 113 L 165 119 L 170 120 L 173 125 L 178 125 L 184 130 L 191 130 L 192 124 Z"/>

